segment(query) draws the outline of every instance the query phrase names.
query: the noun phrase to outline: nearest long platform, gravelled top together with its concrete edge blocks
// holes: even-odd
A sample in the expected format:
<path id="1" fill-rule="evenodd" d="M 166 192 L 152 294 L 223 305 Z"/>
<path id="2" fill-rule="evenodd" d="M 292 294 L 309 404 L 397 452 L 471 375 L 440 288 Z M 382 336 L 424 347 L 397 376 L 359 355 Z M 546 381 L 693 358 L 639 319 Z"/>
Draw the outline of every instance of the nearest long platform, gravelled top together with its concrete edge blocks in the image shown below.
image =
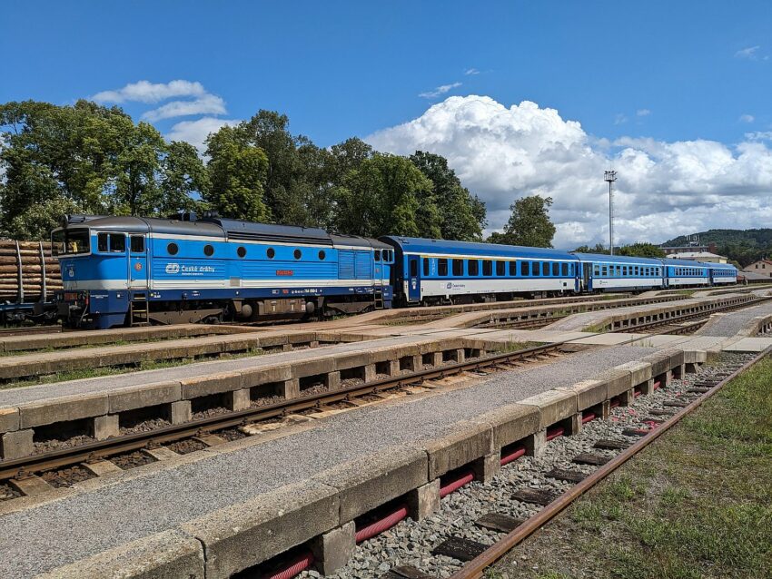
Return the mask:
<path id="1" fill-rule="evenodd" d="M 579 391 L 549 394 L 643 358 L 584 402 Z M 683 359 L 656 348 L 579 352 L 0 504 L 0 576 L 227 577 Z M 134 554 L 141 560 L 120 571 Z"/>

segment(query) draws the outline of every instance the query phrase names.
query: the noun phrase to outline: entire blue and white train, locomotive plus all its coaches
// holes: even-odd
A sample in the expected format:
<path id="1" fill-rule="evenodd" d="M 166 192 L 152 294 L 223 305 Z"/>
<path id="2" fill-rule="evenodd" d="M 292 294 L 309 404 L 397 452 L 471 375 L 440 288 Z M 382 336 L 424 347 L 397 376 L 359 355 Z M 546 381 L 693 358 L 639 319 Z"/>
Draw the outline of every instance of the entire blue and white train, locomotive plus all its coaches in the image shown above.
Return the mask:
<path id="1" fill-rule="evenodd" d="M 310 318 L 737 282 L 728 264 L 385 236 L 181 214 L 69 215 L 52 233 L 64 326 Z"/>

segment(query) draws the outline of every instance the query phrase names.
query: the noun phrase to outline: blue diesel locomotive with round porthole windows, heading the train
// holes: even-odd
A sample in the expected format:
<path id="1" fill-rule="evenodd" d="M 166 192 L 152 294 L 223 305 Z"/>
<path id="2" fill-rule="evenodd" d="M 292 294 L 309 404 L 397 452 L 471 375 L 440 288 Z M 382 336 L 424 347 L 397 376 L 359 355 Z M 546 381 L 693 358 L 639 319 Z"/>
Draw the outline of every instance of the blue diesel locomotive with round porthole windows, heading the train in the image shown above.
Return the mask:
<path id="1" fill-rule="evenodd" d="M 391 307 L 379 240 L 217 217 L 69 216 L 52 235 L 64 324 L 80 328 Z"/>

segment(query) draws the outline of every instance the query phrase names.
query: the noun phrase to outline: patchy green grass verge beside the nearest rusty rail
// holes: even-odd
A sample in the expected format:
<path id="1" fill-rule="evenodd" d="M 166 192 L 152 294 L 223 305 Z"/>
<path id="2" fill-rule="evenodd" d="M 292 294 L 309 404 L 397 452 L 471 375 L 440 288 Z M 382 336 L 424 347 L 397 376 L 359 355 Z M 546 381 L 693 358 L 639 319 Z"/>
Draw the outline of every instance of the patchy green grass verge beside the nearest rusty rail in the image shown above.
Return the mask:
<path id="1" fill-rule="evenodd" d="M 488 576 L 772 578 L 772 359 L 733 380 Z"/>

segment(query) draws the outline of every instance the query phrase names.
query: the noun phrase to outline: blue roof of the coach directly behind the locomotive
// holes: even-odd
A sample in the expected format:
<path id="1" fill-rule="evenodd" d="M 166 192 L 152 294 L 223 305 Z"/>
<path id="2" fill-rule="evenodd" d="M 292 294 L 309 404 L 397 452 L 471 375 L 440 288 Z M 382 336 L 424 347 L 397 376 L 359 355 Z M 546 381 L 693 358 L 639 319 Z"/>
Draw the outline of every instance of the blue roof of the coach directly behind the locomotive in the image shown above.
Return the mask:
<path id="1" fill-rule="evenodd" d="M 379 238 L 401 247 L 405 253 L 440 255 L 479 255 L 482 257 L 532 260 L 576 261 L 576 257 L 564 250 L 551 250 L 498 243 L 476 243 L 473 241 L 424 240 L 415 237 L 383 236 Z"/>

